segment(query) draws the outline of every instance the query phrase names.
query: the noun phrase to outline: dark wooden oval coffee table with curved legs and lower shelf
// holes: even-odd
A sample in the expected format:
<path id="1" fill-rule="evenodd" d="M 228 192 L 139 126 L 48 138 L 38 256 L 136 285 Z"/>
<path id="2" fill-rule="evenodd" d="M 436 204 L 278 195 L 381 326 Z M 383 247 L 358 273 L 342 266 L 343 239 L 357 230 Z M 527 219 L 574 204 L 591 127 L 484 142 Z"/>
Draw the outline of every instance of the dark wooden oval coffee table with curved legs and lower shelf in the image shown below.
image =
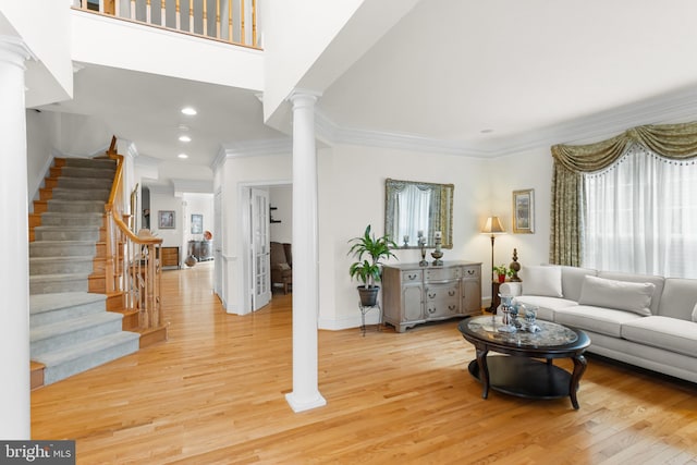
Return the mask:
<path id="1" fill-rule="evenodd" d="M 489 389 L 528 399 L 560 399 L 570 396 L 578 408 L 576 392 L 586 370 L 583 353 L 590 345 L 590 338 L 577 329 L 550 321 L 537 321 L 539 332 L 504 332 L 499 316 L 467 318 L 457 329 L 477 351 L 477 358 L 469 363 L 469 372 L 482 384 L 481 396 L 487 399 Z M 509 356 L 489 356 L 498 352 Z M 554 358 L 571 358 L 574 370 L 568 372 L 553 365 Z M 543 360 L 542 360 L 543 359 Z"/>

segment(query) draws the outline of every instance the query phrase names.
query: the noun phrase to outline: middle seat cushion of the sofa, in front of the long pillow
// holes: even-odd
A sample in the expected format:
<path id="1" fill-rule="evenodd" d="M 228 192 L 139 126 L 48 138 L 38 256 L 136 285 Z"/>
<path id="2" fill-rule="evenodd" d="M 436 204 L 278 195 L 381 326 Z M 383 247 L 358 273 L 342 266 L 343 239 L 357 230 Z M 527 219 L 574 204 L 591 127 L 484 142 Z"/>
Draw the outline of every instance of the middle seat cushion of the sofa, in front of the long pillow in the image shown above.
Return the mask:
<path id="1" fill-rule="evenodd" d="M 614 338 L 621 338 L 622 325 L 641 318 L 645 317 L 632 311 L 589 305 L 559 308 L 554 313 L 554 321 L 560 325 L 612 335 Z"/>

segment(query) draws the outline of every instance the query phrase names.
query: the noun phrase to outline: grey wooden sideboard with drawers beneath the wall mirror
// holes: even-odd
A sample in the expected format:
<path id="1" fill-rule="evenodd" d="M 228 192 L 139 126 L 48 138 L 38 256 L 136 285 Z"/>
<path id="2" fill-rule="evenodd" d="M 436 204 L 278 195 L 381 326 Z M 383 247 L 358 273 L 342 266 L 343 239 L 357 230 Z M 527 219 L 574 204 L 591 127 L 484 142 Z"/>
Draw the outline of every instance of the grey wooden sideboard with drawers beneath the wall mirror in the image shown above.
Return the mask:
<path id="1" fill-rule="evenodd" d="M 384 322 L 398 332 L 426 321 L 481 315 L 481 264 L 384 266 L 382 307 Z"/>

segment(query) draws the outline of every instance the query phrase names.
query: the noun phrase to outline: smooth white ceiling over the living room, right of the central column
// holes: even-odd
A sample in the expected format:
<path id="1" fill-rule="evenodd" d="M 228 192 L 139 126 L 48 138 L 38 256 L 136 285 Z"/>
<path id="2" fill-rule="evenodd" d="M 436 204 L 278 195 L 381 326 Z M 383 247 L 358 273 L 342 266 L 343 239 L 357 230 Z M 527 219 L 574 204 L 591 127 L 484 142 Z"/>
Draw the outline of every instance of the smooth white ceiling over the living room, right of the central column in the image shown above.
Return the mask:
<path id="1" fill-rule="evenodd" d="M 510 139 L 697 84 L 695 17 L 685 0 L 426 0 L 320 105 L 343 127 Z"/>

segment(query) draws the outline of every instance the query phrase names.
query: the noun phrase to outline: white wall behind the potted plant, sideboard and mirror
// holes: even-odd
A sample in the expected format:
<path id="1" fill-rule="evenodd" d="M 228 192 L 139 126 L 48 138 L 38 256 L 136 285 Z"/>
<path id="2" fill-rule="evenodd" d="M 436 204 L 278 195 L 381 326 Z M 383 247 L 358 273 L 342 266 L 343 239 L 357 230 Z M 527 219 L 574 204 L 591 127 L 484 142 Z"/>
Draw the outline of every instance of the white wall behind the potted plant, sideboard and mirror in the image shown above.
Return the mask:
<path id="1" fill-rule="evenodd" d="M 453 248 L 444 250 L 444 260 L 481 261 L 482 270 L 488 269 L 490 242 L 479 234 L 490 205 L 486 160 L 348 145 L 320 150 L 318 160 L 320 328 L 359 325 L 358 283 L 348 276 L 347 241 L 367 224 L 377 234 L 384 232 L 387 178 L 454 184 Z M 415 249 L 396 255 L 400 262 L 420 259 Z M 482 294 L 489 295 L 490 285 L 482 281 Z"/>

